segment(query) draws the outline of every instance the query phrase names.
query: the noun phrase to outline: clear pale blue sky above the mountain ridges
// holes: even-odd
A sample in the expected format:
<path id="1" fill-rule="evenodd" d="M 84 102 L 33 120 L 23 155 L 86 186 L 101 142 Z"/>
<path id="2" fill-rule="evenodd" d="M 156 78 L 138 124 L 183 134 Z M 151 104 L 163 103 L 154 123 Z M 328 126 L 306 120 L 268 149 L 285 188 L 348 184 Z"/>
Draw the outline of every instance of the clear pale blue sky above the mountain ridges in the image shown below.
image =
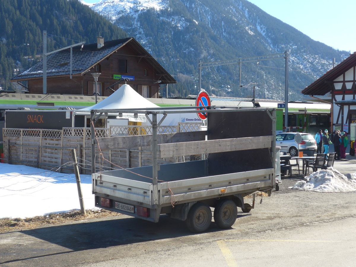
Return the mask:
<path id="1" fill-rule="evenodd" d="M 350 53 L 356 51 L 355 0 L 249 1 L 315 41 Z"/>

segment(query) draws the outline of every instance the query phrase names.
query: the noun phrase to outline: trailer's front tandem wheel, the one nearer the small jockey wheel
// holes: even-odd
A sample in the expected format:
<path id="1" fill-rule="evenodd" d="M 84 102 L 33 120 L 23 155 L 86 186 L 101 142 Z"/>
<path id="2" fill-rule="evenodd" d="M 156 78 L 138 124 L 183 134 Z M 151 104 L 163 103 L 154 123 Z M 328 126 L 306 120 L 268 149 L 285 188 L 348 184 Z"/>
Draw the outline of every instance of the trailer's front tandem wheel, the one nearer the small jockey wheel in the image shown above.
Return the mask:
<path id="1" fill-rule="evenodd" d="M 231 227 L 237 216 L 237 207 L 234 201 L 230 199 L 222 200 L 214 210 L 214 221 L 222 229 Z"/>

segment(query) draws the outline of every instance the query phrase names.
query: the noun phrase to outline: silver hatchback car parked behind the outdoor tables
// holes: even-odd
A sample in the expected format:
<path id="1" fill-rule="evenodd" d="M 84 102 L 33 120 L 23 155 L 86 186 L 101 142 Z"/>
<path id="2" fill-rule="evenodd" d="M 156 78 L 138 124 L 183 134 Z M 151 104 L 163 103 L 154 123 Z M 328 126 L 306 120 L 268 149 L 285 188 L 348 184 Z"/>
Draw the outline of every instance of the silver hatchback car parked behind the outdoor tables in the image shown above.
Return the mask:
<path id="1" fill-rule="evenodd" d="M 281 152 L 287 152 L 290 156 L 298 155 L 298 144 L 294 141 L 296 132 L 284 132 L 276 135 L 276 146 L 281 147 Z M 300 133 L 302 143 L 299 144 L 299 151 L 313 150 L 316 152 L 316 141 L 310 133 Z"/>

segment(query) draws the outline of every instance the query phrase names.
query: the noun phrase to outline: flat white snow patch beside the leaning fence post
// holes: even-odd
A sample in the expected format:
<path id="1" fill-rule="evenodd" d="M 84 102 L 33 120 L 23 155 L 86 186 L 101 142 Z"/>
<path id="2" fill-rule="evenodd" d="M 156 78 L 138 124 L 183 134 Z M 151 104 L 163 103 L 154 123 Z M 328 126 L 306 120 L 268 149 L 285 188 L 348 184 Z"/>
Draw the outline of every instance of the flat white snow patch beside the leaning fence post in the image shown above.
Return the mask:
<path id="1" fill-rule="evenodd" d="M 84 208 L 93 209 L 91 176 L 80 175 Z M 80 209 L 75 174 L 0 163 L 0 218 L 30 218 Z"/>

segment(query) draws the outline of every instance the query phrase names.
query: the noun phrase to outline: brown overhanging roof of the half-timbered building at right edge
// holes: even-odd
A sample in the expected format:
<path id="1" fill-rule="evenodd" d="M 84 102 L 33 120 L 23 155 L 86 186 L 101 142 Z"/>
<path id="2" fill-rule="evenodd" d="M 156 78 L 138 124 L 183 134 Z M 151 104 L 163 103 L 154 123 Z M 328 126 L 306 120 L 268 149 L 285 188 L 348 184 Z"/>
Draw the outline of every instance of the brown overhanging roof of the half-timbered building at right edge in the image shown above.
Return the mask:
<path id="1" fill-rule="evenodd" d="M 326 72 L 323 76 L 317 79 L 314 83 L 310 84 L 302 91 L 305 95 L 325 95 L 332 90 L 332 82 L 344 72 L 356 65 L 356 52 L 350 54 L 350 57 L 346 58 L 336 67 Z"/>

